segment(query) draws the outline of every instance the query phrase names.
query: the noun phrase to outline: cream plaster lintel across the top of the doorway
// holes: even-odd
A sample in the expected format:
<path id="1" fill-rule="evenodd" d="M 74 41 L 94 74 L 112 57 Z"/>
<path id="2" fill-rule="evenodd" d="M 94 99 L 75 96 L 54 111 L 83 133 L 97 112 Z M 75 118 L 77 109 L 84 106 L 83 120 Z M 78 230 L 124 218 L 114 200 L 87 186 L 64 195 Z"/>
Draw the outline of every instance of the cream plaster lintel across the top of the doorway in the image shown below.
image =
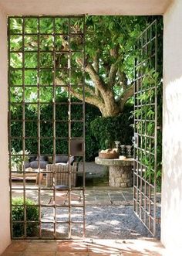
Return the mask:
<path id="1" fill-rule="evenodd" d="M 0 0 L 8 15 L 161 15 L 173 0 Z"/>

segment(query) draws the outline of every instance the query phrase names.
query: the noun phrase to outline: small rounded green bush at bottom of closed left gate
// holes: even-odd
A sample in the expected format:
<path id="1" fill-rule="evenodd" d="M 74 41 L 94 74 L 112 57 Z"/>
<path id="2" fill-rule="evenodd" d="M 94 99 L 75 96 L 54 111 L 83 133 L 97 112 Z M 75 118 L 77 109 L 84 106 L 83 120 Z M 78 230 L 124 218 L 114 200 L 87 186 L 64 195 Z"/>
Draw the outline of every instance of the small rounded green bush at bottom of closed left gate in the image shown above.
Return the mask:
<path id="1" fill-rule="evenodd" d="M 12 220 L 24 220 L 24 207 L 23 198 L 17 197 L 12 199 Z M 29 199 L 25 199 L 25 213 L 26 220 L 37 221 L 36 223 L 27 223 L 26 225 L 26 235 L 27 237 L 34 237 L 38 235 L 39 230 L 39 208 L 35 207 L 35 202 Z M 24 224 L 23 223 L 13 223 L 12 224 L 12 236 L 13 237 L 23 237 L 24 236 Z"/>

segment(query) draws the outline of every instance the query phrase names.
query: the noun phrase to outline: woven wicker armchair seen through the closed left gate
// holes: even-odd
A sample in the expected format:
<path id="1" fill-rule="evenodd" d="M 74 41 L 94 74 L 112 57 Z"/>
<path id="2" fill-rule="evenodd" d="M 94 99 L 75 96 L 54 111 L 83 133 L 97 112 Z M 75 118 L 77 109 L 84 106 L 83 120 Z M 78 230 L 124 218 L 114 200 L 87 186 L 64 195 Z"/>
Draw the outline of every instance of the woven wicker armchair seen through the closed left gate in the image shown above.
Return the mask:
<path id="1" fill-rule="evenodd" d="M 71 186 L 76 186 L 76 172 L 78 163 L 73 162 L 71 169 Z M 48 164 L 46 166 L 46 186 L 53 186 L 53 177 L 55 176 L 55 185 L 65 185 L 69 187 L 69 165 Z"/>

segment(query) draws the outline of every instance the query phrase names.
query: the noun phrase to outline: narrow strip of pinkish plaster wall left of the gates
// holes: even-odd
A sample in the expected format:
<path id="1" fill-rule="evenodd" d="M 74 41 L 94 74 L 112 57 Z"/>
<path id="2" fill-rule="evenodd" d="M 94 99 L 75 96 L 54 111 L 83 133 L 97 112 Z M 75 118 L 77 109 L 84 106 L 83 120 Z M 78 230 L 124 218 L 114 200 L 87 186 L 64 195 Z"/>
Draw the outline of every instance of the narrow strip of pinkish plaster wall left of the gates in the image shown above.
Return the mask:
<path id="1" fill-rule="evenodd" d="M 0 9 L 0 254 L 10 243 L 8 192 L 8 68 L 6 15 Z"/>

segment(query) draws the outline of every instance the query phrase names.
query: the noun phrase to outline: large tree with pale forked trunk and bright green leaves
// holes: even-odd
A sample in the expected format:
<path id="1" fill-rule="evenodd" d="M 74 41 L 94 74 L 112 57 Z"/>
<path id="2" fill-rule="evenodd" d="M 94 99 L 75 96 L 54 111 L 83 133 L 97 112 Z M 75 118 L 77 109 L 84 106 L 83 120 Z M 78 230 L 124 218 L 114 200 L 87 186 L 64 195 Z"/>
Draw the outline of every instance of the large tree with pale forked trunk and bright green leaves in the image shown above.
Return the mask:
<path id="1" fill-rule="evenodd" d="M 129 17 L 129 16 L 86 16 L 86 85 L 85 100 L 89 104 L 95 105 L 104 117 L 116 116 L 123 111 L 124 104 L 133 95 L 133 65 L 135 40 L 140 31 L 146 26 L 147 18 Z M 23 21 L 22 18 L 11 20 L 10 32 L 16 32 L 17 36 L 10 37 L 10 49 L 21 50 Z M 42 101 L 51 101 L 52 90 L 46 88 L 46 85 L 53 84 L 51 68 L 56 66 L 56 84 L 68 84 L 68 73 L 65 67 L 68 67 L 69 48 L 73 50 L 82 49 L 83 36 L 73 36 L 69 39 L 66 36 L 68 32 L 68 19 L 55 19 L 53 26 L 52 18 L 40 19 L 39 46 L 38 36 L 31 36 L 31 33 L 38 31 L 38 19 L 25 19 L 24 47 L 25 67 L 38 67 L 37 53 L 40 50 L 52 51 L 52 53 L 40 53 L 39 66 L 49 67 L 50 70 L 41 70 L 39 72 L 39 83 L 45 86 L 41 89 L 40 97 Z M 53 39 L 53 33 L 62 33 L 63 36 L 56 36 Z M 71 32 L 79 35 L 83 32 L 83 19 L 71 19 Z M 43 35 L 48 33 L 49 35 Z M 56 49 L 55 58 L 52 57 L 53 50 Z M 62 53 L 58 53 L 59 51 Z M 55 63 L 53 63 L 55 61 Z M 83 90 L 78 87 L 80 67 L 83 65 L 82 54 L 74 53 L 71 56 L 72 65 L 76 72 L 71 77 L 71 92 L 78 99 L 83 99 Z M 10 58 L 10 82 L 11 84 L 21 84 L 21 71 L 14 70 L 16 67 L 22 67 L 22 53 L 11 53 Z M 25 84 L 34 85 L 38 77 L 36 70 L 25 70 Z M 66 90 L 66 87 L 64 87 Z M 37 97 L 36 87 L 25 90 L 25 97 L 28 99 Z M 62 94 L 63 87 L 58 87 L 57 95 Z M 22 90 L 12 88 L 12 97 L 21 97 Z"/>

